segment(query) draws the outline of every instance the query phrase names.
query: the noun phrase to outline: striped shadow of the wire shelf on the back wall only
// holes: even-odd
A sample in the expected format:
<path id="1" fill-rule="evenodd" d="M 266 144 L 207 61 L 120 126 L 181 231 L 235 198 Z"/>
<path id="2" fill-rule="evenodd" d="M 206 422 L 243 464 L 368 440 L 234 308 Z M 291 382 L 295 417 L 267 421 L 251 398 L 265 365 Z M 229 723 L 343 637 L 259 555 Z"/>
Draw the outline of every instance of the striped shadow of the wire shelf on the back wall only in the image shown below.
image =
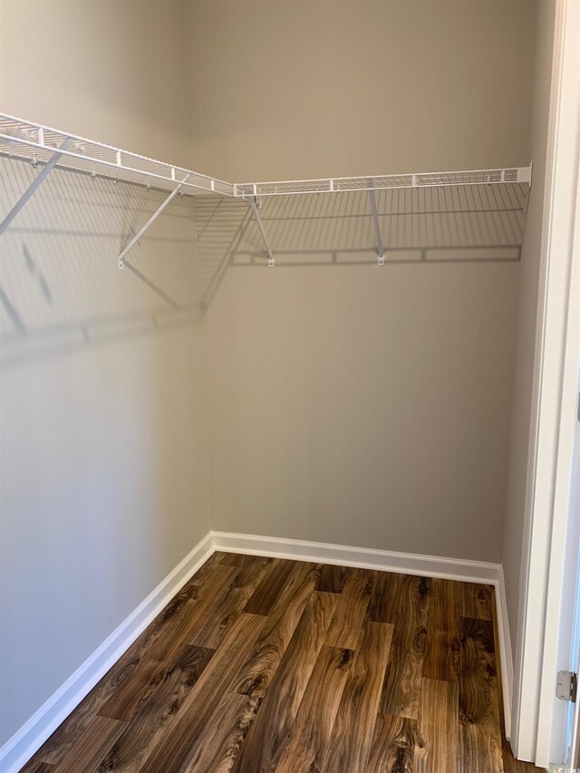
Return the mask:
<path id="1" fill-rule="evenodd" d="M 385 260 L 519 260 L 527 193 L 527 185 L 520 184 L 377 190 Z M 196 212 L 198 208 L 196 201 Z M 377 263 L 366 191 L 263 198 L 260 217 L 276 266 Z M 203 256 L 203 243 L 199 247 Z M 252 220 L 233 263 L 264 265 L 264 260 L 263 242 Z"/>

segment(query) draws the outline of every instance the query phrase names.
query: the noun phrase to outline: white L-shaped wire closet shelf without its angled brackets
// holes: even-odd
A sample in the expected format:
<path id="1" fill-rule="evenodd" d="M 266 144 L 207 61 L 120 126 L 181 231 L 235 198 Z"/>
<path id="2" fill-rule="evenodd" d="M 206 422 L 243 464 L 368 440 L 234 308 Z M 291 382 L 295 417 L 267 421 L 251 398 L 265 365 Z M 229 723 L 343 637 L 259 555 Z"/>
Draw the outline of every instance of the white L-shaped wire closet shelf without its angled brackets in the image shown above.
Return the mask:
<path id="1" fill-rule="evenodd" d="M 531 185 L 532 178 L 530 165 L 511 169 L 231 183 L 0 113 L 1 156 L 43 166 L 53 159 L 55 153 L 59 154 L 55 165 L 60 169 L 166 190 L 174 190 L 180 185 L 180 192 L 190 196 L 218 194 L 233 198 L 260 198 L 293 194 L 340 193 L 369 190 L 369 188 L 384 190 L 504 183 Z"/>

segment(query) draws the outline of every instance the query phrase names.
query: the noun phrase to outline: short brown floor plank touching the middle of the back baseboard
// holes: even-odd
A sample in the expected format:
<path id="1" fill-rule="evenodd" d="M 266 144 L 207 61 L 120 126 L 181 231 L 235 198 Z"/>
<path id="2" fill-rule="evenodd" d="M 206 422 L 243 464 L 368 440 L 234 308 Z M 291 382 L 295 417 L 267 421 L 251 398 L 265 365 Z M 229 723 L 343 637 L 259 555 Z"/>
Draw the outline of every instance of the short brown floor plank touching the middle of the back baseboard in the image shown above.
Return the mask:
<path id="1" fill-rule="evenodd" d="M 359 569 L 349 575 L 326 637 L 325 644 L 329 647 L 343 650 L 356 647 L 377 574 L 370 569 Z"/>

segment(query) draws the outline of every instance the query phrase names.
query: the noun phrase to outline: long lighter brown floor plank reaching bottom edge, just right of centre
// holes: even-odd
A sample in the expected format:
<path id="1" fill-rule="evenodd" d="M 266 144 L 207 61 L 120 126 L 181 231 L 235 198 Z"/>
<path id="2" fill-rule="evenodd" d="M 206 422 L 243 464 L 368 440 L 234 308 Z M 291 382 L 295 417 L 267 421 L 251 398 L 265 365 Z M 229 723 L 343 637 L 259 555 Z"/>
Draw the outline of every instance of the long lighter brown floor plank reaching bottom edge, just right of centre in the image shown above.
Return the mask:
<path id="1" fill-rule="evenodd" d="M 366 621 L 354 652 L 322 773 L 366 770 L 393 626 Z"/>

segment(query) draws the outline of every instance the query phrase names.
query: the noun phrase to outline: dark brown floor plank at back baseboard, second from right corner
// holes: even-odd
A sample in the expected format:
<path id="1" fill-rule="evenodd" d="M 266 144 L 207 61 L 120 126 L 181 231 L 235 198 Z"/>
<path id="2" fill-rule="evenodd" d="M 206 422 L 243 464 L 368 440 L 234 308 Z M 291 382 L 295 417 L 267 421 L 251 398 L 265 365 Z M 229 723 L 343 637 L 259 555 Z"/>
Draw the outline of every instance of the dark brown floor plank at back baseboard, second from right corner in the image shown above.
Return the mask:
<path id="1" fill-rule="evenodd" d="M 431 581 L 422 671 L 425 679 L 459 680 L 460 602 L 460 583 L 441 579 Z"/>

